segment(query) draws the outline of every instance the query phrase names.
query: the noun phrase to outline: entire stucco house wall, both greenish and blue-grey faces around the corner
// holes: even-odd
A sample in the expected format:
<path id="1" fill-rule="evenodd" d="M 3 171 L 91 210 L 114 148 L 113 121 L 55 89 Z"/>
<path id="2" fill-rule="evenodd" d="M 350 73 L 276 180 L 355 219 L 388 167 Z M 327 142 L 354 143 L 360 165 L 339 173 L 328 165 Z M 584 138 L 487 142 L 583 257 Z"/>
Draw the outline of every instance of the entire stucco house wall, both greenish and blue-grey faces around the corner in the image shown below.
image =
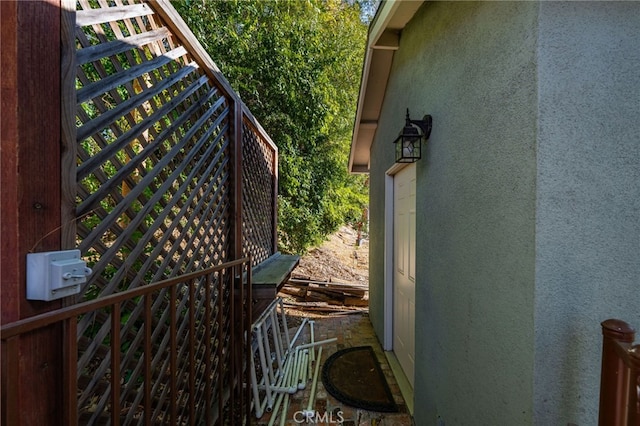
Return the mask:
<path id="1" fill-rule="evenodd" d="M 427 2 L 371 152 L 371 317 L 384 172 L 417 164 L 415 420 L 595 425 L 601 321 L 640 327 L 640 3 Z"/>

